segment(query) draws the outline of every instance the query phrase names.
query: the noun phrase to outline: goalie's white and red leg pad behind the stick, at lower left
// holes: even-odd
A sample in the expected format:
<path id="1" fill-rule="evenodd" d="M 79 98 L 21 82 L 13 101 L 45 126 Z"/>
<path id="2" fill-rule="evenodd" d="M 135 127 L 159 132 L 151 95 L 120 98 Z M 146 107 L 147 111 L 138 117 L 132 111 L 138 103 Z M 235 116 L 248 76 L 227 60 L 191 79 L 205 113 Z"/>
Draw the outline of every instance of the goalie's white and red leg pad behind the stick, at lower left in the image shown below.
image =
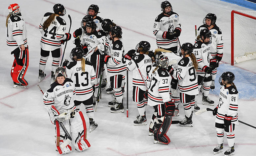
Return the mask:
<path id="1" fill-rule="evenodd" d="M 65 128 L 67 129 L 68 133 L 70 134 L 70 126 L 69 126 L 69 120 L 62 122 Z M 64 148 L 61 148 L 60 145 L 67 139 L 67 136 L 65 132 L 62 130 L 58 122 L 55 122 L 55 132 L 56 132 L 56 148 L 59 154 L 65 154 L 70 151 L 72 151 L 72 148 L 70 145 L 67 145 Z"/>

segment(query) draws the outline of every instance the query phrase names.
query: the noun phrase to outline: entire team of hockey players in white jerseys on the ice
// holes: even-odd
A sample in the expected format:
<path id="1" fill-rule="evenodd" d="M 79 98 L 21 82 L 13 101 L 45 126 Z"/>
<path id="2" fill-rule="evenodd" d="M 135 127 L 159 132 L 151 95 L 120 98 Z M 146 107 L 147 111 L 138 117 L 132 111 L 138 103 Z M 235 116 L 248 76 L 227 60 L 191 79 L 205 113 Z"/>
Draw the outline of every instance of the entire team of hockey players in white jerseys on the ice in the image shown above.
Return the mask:
<path id="1" fill-rule="evenodd" d="M 162 2 L 161 8 L 162 13 L 155 18 L 153 26 L 158 48 L 153 52 L 148 41 L 140 41 L 134 49 L 126 52 L 122 28 L 111 19 L 99 17 L 99 7 L 90 5 L 81 27 L 73 33 L 75 48 L 69 54 L 71 62 L 60 57 L 61 44 L 72 38 L 61 18 L 66 14 L 64 6 L 55 4 L 54 13 L 44 14 L 39 25 L 42 37 L 38 81 L 46 78 L 44 71 L 51 52 L 52 84 L 44 93 L 43 102 L 55 125 L 55 144 L 59 154 L 72 151 L 72 146 L 78 151 L 91 146 L 86 139 L 86 121 L 80 106 L 81 103 L 85 106 L 90 132 L 95 130 L 98 125 L 94 121 L 94 109 L 101 90 L 107 86 L 107 77 L 110 88 L 106 91 L 114 93 L 114 99 L 108 103 L 110 112 L 124 113 L 126 73 L 132 71 L 132 100 L 139 112 L 133 124 L 147 125 L 146 108 L 147 105 L 153 106 L 149 135 L 154 136 L 156 144 L 170 143 L 166 133 L 172 117 L 179 116 L 182 106 L 185 118 L 179 125 L 192 127 L 193 112 L 200 110 L 199 104 L 214 105 L 208 95 L 210 89 L 215 89 L 214 80 L 223 56 L 223 37 L 216 25 L 216 15 L 208 13 L 204 17 L 203 25 L 196 29 L 194 44 L 186 42 L 181 45 L 179 15 L 173 12 L 168 1 Z M 14 47 L 11 54 L 15 56 L 11 77 L 15 88 L 25 88 L 28 85 L 24 79 L 28 68 L 27 30 L 18 4 L 11 4 L 8 9 L 7 45 Z M 234 79 L 232 72 L 224 72 L 218 80 L 222 87 L 213 111 L 218 142 L 214 154 L 223 151 L 225 131 L 229 148 L 224 154 L 234 155 L 233 131 L 238 124 L 238 91 Z M 202 100 L 196 101 L 200 94 Z M 68 140 L 69 133 L 71 139 Z"/>

